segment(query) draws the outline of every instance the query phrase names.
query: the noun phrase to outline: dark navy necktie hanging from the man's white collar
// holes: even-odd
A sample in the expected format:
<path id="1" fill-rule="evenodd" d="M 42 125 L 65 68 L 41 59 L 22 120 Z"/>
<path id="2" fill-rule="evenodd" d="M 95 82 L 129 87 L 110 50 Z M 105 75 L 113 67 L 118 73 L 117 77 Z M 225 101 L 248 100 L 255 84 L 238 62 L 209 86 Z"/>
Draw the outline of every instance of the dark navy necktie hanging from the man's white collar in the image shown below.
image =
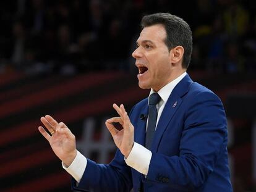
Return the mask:
<path id="1" fill-rule="evenodd" d="M 156 120 L 157 120 L 157 109 L 156 104 L 160 101 L 161 97 L 158 93 L 153 93 L 149 98 L 149 106 L 148 106 L 148 128 L 146 133 L 146 141 L 145 147 L 147 149 L 151 148 L 151 143 L 153 141 L 155 128 L 156 128 Z"/>

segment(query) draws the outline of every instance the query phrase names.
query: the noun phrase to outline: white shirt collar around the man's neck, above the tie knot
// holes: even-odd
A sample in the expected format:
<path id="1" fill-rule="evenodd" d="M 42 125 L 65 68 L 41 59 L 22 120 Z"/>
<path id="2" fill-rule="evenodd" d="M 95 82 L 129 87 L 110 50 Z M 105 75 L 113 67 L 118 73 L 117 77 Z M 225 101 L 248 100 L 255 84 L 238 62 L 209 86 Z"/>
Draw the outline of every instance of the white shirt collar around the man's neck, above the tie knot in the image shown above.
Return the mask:
<path id="1" fill-rule="evenodd" d="M 187 72 L 182 73 L 179 77 L 177 77 L 175 80 L 169 82 L 167 85 L 163 86 L 161 90 L 158 91 L 158 94 L 160 95 L 161 99 L 163 99 L 164 102 L 167 102 L 169 96 L 171 95 L 171 92 L 173 91 L 174 87 L 179 83 L 179 81 L 182 80 L 187 75 Z M 153 89 L 151 88 L 150 94 L 155 93 Z"/>

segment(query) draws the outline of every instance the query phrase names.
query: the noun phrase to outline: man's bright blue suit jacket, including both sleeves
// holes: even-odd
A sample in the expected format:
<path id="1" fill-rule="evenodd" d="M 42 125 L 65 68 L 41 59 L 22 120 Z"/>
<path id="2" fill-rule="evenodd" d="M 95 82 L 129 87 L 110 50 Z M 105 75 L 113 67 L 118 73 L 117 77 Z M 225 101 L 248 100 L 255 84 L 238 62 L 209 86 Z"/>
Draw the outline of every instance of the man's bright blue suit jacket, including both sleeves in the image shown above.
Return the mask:
<path id="1" fill-rule="evenodd" d="M 148 99 L 130 112 L 135 142 L 144 145 Z M 229 178 L 227 127 L 223 104 L 216 94 L 186 75 L 163 109 L 151 147 L 147 178 L 129 167 L 117 149 L 108 165 L 88 159 L 80 191 L 232 191 Z"/>

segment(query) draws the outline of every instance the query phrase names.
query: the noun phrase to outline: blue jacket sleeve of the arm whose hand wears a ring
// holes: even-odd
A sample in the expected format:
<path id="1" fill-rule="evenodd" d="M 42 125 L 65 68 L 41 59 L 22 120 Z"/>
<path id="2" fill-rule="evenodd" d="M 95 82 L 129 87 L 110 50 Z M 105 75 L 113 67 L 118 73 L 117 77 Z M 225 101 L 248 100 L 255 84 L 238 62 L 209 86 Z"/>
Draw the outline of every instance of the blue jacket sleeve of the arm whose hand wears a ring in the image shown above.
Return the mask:
<path id="1" fill-rule="evenodd" d="M 72 190 L 77 191 L 129 192 L 131 189 L 131 170 L 119 149 L 117 149 L 114 159 L 109 164 L 97 164 L 87 158 L 87 167 L 78 186 L 75 179 L 72 178 Z"/>

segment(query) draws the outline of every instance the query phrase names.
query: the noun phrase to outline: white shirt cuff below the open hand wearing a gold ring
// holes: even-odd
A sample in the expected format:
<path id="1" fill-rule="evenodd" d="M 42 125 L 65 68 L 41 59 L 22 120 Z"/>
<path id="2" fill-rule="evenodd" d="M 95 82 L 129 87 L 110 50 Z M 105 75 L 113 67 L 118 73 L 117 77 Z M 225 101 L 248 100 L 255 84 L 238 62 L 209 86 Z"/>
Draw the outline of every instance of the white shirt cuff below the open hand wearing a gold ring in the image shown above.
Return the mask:
<path id="1" fill-rule="evenodd" d="M 79 151 L 77 151 L 77 156 L 75 156 L 72 164 L 67 167 L 63 162 L 61 162 L 63 169 L 65 169 L 77 182 L 80 182 L 83 172 L 87 165 L 87 159 Z"/>

